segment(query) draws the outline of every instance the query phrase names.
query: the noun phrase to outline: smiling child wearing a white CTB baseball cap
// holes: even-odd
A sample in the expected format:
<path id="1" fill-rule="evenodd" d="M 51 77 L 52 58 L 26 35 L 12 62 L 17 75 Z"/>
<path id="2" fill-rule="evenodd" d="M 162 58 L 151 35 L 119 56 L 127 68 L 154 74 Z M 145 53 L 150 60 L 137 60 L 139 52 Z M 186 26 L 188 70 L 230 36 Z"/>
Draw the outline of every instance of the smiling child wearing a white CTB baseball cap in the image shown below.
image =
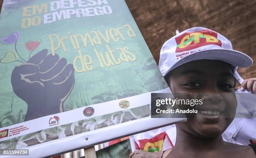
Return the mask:
<path id="1" fill-rule="evenodd" d="M 256 157 L 250 146 L 225 142 L 221 136 L 236 114 L 236 67 L 251 64 L 228 39 L 207 28 L 185 30 L 164 43 L 159 69 L 174 96 L 202 93 L 205 98 L 194 118 L 176 124 L 176 143 L 167 158 Z"/>

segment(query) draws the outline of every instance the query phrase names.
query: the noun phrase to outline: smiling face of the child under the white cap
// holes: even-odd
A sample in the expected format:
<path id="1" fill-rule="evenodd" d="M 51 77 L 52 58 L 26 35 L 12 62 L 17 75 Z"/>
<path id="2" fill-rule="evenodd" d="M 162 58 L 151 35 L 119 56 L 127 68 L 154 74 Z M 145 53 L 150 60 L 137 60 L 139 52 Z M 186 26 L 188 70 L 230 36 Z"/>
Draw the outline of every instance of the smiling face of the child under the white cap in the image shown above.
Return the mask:
<path id="1" fill-rule="evenodd" d="M 214 138 L 225 131 L 236 113 L 235 80 L 231 66 L 220 60 L 195 60 L 168 74 L 172 93 L 201 93 L 203 105 L 187 122 L 178 123 L 182 130 L 201 138 Z M 199 95 L 199 94 L 198 94 Z M 228 110 L 227 110 L 228 109 Z M 219 115 L 201 113 L 218 112 Z"/>

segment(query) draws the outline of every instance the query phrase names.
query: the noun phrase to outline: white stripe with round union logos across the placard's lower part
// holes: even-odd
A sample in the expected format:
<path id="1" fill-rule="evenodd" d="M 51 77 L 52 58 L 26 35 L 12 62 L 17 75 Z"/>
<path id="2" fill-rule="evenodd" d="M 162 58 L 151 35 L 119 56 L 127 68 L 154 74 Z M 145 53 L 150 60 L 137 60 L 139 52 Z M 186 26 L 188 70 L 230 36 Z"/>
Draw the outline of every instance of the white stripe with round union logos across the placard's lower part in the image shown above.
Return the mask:
<path id="1" fill-rule="evenodd" d="M 48 116 L 44 116 L 41 118 L 28 120 L 23 123 L 10 125 L 8 127 L 0 128 L 0 131 L 7 130 L 7 129 L 9 130 L 8 137 L 1 138 L 0 141 L 8 140 L 11 138 L 19 137 L 21 135 L 26 135 L 29 133 L 37 132 L 37 131 L 48 129 L 48 128 L 57 127 L 60 125 L 74 123 L 79 120 L 85 120 L 87 118 L 93 118 L 96 116 L 106 115 L 109 113 L 115 113 L 118 111 L 123 111 L 124 109 L 120 108 L 120 106 L 119 106 L 119 102 L 121 100 L 128 100 L 130 103 L 130 106 L 128 108 L 126 108 L 125 110 L 140 107 L 143 105 L 148 105 L 148 104 L 151 104 L 151 93 L 171 93 L 171 90 L 169 88 L 165 88 L 163 90 L 157 90 L 155 92 L 143 93 L 143 94 L 135 95 L 135 96 L 128 97 L 128 98 L 122 98 L 122 99 L 118 99 L 118 100 L 108 101 L 105 103 L 88 105 L 88 106 L 85 106 L 82 108 L 77 108 L 77 109 L 70 110 L 67 112 L 56 113 L 54 115 L 48 115 Z M 91 107 L 94 109 L 94 113 L 91 116 L 85 116 L 83 113 L 84 109 L 88 108 L 88 107 Z M 54 116 L 59 117 L 59 124 L 49 125 L 49 119 L 53 118 Z M 38 125 L 39 123 L 40 123 L 40 125 Z M 18 133 L 17 130 L 20 131 L 20 133 Z M 12 135 L 12 131 L 15 131 L 14 133 L 18 133 L 18 134 Z"/>

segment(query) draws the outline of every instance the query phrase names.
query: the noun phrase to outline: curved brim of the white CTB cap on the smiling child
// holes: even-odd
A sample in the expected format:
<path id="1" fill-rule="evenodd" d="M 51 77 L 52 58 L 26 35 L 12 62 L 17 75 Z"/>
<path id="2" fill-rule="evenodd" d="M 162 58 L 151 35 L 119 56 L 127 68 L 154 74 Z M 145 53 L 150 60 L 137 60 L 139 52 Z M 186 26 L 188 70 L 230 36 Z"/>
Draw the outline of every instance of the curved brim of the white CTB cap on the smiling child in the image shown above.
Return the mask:
<path id="1" fill-rule="evenodd" d="M 197 53 L 192 53 L 177 63 L 175 63 L 169 70 L 163 75 L 165 76 L 169 71 L 177 68 L 178 66 L 188 63 L 193 60 L 201 60 L 201 59 L 209 59 L 209 60 L 221 60 L 226 63 L 229 63 L 236 67 L 247 68 L 253 64 L 253 60 L 246 54 L 230 49 L 212 49 L 212 50 L 203 50 Z"/>

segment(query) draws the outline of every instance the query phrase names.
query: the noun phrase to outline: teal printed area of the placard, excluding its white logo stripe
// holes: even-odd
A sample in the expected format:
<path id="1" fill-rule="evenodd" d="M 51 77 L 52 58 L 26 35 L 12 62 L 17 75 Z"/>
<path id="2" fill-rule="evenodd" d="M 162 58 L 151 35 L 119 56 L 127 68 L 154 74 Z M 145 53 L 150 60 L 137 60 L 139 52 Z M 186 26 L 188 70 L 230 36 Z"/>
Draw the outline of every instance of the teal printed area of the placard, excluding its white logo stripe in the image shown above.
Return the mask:
<path id="1" fill-rule="evenodd" d="M 168 87 L 124 0 L 13 0 L 11 3 L 5 0 L 0 15 L 0 38 L 0 128 Z M 67 63 L 57 69 L 61 58 Z M 39 65 L 40 71 L 35 73 L 34 66 L 20 75 L 18 68 L 28 63 Z M 66 75 L 58 79 L 68 66 Z M 59 71 L 52 76 L 43 74 L 51 70 Z M 33 86 L 19 84 L 20 77 L 22 82 Z M 58 80 L 52 85 L 61 85 L 69 79 L 70 84 L 54 89 L 48 83 L 52 78 Z M 28 107 L 32 107 L 31 112 Z M 120 111 L 14 139 L 22 142 L 34 139 L 32 143 L 26 142 L 33 145 L 121 123 L 124 113 L 127 117 L 123 121 L 150 113 L 143 108 L 136 111 L 142 113 L 137 117 L 129 110 Z M 69 132 L 65 131 L 67 128 Z M 6 147 L 5 143 L 0 147 Z"/>

